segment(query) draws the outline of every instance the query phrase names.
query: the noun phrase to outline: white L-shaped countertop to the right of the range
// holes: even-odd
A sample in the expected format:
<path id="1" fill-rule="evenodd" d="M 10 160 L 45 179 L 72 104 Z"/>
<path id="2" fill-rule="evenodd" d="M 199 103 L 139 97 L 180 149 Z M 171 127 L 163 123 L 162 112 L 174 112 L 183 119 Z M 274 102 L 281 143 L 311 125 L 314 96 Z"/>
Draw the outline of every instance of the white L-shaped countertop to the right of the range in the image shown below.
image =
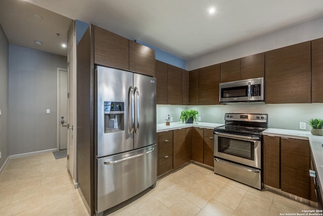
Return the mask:
<path id="1" fill-rule="evenodd" d="M 290 129 L 279 129 L 279 128 L 268 128 L 263 135 L 294 138 L 301 140 L 309 140 L 310 149 L 313 155 L 315 168 L 316 168 L 316 178 L 320 184 L 321 194 L 323 194 L 323 136 L 315 136 L 307 131 L 294 131 Z"/>

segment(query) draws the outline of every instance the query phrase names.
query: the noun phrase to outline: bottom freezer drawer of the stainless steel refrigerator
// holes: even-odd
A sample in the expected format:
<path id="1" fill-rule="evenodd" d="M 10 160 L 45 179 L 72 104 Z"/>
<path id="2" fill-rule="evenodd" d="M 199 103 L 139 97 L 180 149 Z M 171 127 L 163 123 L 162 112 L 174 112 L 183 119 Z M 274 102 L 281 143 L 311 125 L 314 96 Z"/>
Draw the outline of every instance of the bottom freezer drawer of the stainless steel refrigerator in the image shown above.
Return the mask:
<path id="1" fill-rule="evenodd" d="M 156 183 L 156 146 L 97 159 L 97 212 L 126 201 Z"/>

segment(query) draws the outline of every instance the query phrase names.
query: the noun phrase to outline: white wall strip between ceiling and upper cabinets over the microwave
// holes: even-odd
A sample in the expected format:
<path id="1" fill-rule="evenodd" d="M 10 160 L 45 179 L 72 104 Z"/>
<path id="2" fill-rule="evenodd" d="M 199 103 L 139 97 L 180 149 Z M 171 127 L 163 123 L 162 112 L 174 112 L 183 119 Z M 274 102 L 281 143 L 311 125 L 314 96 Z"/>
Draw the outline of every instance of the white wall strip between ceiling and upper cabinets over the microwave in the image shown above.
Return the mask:
<path id="1" fill-rule="evenodd" d="M 187 61 L 186 69 L 194 70 L 320 37 L 323 37 L 323 17 L 191 59 Z"/>

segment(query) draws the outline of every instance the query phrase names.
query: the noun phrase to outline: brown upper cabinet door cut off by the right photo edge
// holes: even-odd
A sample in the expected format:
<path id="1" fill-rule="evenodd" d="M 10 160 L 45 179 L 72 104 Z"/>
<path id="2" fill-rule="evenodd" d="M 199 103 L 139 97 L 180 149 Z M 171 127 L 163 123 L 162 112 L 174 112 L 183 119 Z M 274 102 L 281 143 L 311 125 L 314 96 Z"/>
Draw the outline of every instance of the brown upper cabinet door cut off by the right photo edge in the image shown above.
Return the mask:
<path id="1" fill-rule="evenodd" d="M 312 40 L 312 103 L 323 103 L 323 38 Z"/>

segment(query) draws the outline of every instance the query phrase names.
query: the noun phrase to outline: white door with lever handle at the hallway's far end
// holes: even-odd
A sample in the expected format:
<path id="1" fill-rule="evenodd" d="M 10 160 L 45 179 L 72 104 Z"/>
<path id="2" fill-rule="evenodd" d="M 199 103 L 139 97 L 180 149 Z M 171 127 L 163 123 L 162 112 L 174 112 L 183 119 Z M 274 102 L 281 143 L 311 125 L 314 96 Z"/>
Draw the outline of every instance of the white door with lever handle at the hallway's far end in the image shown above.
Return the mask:
<path id="1" fill-rule="evenodd" d="M 58 68 L 59 80 L 59 110 L 60 129 L 59 129 L 59 150 L 67 149 L 67 115 L 68 115 L 68 74 L 67 70 Z M 61 121 L 64 123 L 61 123 Z"/>

